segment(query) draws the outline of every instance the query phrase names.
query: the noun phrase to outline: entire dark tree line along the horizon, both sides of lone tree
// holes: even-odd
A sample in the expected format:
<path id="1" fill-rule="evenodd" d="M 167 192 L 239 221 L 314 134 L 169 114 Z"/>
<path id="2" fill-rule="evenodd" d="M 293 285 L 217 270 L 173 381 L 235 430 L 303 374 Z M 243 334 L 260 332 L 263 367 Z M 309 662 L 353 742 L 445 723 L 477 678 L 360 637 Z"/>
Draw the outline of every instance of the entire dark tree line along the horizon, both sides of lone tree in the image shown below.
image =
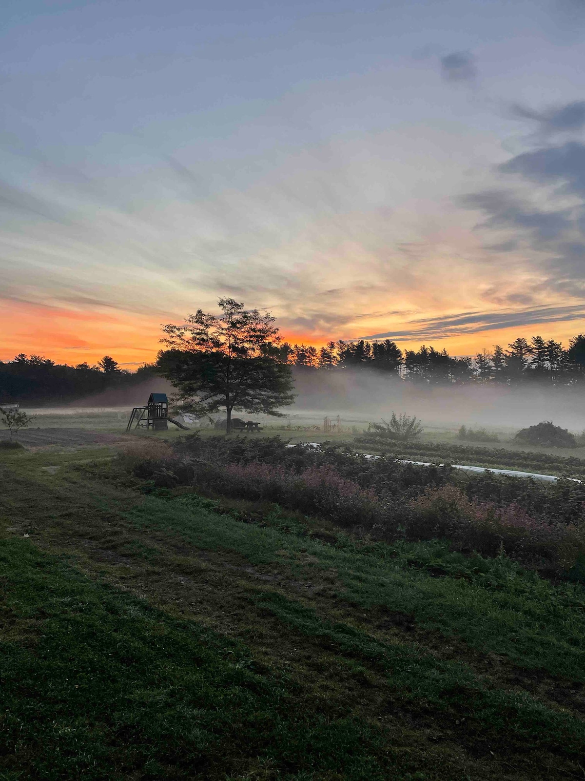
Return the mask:
<path id="1" fill-rule="evenodd" d="M 328 341 L 321 348 L 310 344 L 275 342 L 264 344 L 265 355 L 299 371 L 367 369 L 415 383 L 505 383 L 540 380 L 553 385 L 572 385 L 585 380 L 585 334 L 561 342 L 541 336 L 519 337 L 506 348 L 475 356 L 453 357 L 445 349 L 422 345 L 404 350 L 395 341 Z M 136 372 L 121 369 L 105 355 L 93 366 L 57 364 L 41 355 L 16 355 L 0 361 L 2 401 L 68 401 L 112 387 L 131 387 L 158 376 L 160 367 L 145 363 Z"/>

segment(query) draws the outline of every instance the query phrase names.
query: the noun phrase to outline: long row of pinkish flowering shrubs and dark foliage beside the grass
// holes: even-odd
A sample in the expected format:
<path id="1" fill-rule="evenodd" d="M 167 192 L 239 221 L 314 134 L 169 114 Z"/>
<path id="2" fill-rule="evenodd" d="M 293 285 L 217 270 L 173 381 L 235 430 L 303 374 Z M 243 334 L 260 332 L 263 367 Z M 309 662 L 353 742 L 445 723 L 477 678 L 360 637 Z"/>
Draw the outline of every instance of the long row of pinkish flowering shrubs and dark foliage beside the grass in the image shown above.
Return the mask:
<path id="1" fill-rule="evenodd" d="M 454 550 L 488 556 L 503 549 L 524 565 L 555 572 L 585 554 L 585 485 L 569 480 L 469 476 L 339 447 L 288 448 L 279 437 L 186 437 L 174 450 L 124 458 L 159 489 L 190 485 L 276 502 L 378 539 L 442 538 Z"/>

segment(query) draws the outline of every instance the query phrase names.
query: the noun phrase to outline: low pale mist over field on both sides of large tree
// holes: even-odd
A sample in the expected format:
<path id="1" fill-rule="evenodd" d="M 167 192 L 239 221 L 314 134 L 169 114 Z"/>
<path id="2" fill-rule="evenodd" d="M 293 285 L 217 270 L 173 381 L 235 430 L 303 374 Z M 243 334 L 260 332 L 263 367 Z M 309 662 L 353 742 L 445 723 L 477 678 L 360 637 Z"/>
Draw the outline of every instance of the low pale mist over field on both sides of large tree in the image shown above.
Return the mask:
<path id="1" fill-rule="evenodd" d="M 292 406 L 282 409 L 285 419 L 322 423 L 324 415 L 339 414 L 345 424 L 367 423 L 386 418 L 394 411 L 417 415 L 427 425 L 446 427 L 477 423 L 519 429 L 541 420 L 553 420 L 572 431 L 585 429 L 581 387 L 549 387 L 545 383 L 523 387 L 419 385 L 363 369 L 317 372 L 294 367 L 293 373 L 297 396 Z M 105 408 L 126 410 L 144 405 L 151 393 L 172 397 L 173 391 L 168 380 L 153 377 L 135 387 L 111 388 L 68 405 L 51 405 L 51 408 L 39 405 L 38 410 L 44 415 Z M 33 407 L 37 405 L 30 405 Z M 278 422 L 274 418 L 266 420 Z"/>

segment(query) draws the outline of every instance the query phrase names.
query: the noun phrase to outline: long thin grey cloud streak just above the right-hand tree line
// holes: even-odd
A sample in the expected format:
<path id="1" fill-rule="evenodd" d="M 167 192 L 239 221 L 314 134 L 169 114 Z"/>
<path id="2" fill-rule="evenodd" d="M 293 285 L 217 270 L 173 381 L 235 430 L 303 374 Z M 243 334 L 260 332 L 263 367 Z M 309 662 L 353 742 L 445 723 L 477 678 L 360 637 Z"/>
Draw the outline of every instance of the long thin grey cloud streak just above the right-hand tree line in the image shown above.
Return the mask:
<path id="1" fill-rule="evenodd" d="M 411 320 L 408 330 L 371 333 L 362 339 L 445 339 L 462 333 L 501 328 L 523 328 L 541 323 L 558 323 L 585 318 L 585 304 L 572 306 L 539 306 L 502 312 L 459 312 L 449 317 Z"/>

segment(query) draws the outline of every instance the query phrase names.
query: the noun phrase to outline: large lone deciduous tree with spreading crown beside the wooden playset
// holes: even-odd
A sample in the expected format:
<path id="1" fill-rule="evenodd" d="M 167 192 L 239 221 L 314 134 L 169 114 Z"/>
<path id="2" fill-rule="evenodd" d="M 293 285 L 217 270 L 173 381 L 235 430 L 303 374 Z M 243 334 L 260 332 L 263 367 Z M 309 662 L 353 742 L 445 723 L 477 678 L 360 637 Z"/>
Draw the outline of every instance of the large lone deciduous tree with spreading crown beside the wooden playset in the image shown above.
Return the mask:
<path id="1" fill-rule="evenodd" d="M 176 401 L 198 417 L 225 408 L 226 433 L 232 411 L 280 415 L 293 403 L 290 367 L 278 355 L 278 328 L 270 314 L 220 298 L 220 316 L 197 309 L 181 326 L 163 326 L 168 350 L 158 369 L 177 388 Z"/>

